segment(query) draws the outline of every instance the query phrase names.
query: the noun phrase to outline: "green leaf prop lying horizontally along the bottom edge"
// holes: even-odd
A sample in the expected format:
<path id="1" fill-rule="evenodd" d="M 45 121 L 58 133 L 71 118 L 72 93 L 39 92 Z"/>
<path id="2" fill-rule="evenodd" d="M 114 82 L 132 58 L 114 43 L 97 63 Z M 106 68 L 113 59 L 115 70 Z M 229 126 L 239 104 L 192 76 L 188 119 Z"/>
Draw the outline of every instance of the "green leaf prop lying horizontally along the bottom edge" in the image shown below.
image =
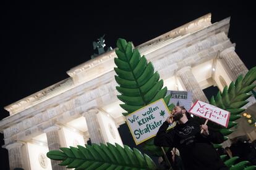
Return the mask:
<path id="1" fill-rule="evenodd" d="M 78 148 L 60 148 L 47 153 L 51 160 L 62 161 L 59 165 L 75 169 L 156 169 L 155 163 L 148 155 L 124 145 L 107 143 L 85 145 Z"/>

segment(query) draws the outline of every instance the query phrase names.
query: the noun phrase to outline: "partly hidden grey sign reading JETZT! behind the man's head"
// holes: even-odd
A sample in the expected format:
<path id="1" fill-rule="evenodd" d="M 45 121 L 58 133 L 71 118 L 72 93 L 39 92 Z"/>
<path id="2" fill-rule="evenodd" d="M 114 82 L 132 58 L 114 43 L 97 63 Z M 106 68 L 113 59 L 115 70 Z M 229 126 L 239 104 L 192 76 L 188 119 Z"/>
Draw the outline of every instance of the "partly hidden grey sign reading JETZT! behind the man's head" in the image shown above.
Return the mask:
<path id="1" fill-rule="evenodd" d="M 184 106 L 186 110 L 189 110 L 192 103 L 192 91 L 167 91 L 166 95 L 171 95 L 169 104 L 173 103 L 179 106 Z"/>

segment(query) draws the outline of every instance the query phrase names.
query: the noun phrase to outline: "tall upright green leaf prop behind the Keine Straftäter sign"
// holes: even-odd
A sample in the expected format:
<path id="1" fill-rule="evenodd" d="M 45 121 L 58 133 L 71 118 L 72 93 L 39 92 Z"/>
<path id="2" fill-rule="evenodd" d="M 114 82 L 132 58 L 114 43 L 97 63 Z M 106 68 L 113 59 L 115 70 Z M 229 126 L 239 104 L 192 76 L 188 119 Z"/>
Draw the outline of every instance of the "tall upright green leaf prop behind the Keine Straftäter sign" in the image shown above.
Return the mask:
<path id="1" fill-rule="evenodd" d="M 117 95 L 117 98 L 124 102 L 120 106 L 127 111 L 122 115 L 127 116 L 158 99 L 164 99 L 168 105 L 171 95 L 166 96 L 167 87 L 163 87 L 163 79 L 160 79 L 158 71 L 154 73 L 152 63 L 147 63 L 145 56 L 141 57 L 138 49 L 133 49 L 132 43 L 126 42 L 125 39 L 118 39 L 117 47 L 117 58 L 114 59 L 117 68 L 114 68 L 114 71 L 117 74 L 116 82 L 119 84 L 116 89 L 121 94 Z M 169 110 L 173 107 L 173 104 L 168 106 Z M 152 142 L 144 143 L 144 150 L 152 155 L 163 155 L 160 147 L 151 144 Z"/>

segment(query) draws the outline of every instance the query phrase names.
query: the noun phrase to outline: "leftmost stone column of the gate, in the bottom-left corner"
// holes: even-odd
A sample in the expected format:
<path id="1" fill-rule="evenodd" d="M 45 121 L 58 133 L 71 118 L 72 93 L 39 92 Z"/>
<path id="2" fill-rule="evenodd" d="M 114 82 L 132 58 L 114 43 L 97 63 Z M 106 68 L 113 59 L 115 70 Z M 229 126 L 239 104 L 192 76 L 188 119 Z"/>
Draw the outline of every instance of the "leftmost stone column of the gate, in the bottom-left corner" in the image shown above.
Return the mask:
<path id="1" fill-rule="evenodd" d="M 15 142 L 5 147 L 8 150 L 9 165 L 11 170 L 14 168 L 24 168 L 21 150 L 22 145 L 23 144 L 19 142 Z"/>

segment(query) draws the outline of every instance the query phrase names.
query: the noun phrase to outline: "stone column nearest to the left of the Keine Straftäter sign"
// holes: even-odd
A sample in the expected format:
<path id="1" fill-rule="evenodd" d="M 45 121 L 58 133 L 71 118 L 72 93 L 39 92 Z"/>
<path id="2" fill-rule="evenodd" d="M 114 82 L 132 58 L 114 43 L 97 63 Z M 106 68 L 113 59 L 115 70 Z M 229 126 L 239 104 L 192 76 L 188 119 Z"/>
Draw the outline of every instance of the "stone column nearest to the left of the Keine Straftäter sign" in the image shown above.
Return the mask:
<path id="1" fill-rule="evenodd" d="M 104 140 L 100 132 L 100 124 L 96 116 L 97 113 L 98 113 L 98 110 L 91 109 L 83 113 L 83 116 L 86 119 L 91 142 L 95 144 L 100 144 L 100 143 L 104 143 Z"/>

